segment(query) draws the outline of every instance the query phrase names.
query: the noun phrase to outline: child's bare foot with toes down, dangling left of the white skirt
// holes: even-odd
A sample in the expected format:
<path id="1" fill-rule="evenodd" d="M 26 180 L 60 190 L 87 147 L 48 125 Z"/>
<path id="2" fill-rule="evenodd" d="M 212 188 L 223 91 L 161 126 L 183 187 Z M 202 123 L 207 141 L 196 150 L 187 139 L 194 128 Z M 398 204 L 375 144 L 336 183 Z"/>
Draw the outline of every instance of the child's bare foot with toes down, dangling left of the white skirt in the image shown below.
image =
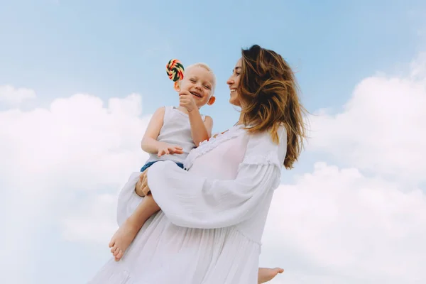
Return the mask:
<path id="1" fill-rule="evenodd" d="M 126 251 L 133 239 L 135 239 L 139 229 L 138 226 L 134 226 L 129 219 L 127 219 L 116 231 L 114 236 L 112 236 L 109 247 L 116 261 L 119 261 L 123 257 L 124 251 Z"/>

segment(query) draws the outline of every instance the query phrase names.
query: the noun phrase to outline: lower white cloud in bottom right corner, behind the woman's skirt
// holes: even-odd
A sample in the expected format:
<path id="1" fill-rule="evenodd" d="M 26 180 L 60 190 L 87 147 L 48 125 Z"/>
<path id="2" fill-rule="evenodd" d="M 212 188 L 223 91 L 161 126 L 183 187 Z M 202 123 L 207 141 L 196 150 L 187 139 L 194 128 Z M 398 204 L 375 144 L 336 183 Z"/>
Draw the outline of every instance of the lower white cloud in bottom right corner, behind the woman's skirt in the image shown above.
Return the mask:
<path id="1" fill-rule="evenodd" d="M 415 283 L 426 280 L 425 239 L 424 192 L 317 163 L 275 192 L 263 254 L 290 267 L 297 255 L 295 283 Z"/>

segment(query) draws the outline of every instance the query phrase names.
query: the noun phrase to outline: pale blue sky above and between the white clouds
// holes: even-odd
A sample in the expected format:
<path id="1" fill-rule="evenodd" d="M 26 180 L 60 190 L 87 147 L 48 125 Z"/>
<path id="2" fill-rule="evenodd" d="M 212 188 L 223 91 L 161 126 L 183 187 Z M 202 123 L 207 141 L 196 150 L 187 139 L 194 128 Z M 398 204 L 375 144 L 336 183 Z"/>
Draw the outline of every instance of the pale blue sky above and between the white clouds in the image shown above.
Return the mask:
<path id="1" fill-rule="evenodd" d="M 335 114 L 366 77 L 408 72 L 408 63 L 425 50 L 425 13 L 420 0 L 0 0 L 0 86 L 35 90 L 37 97 L 20 105 L 23 111 L 76 93 L 105 104 L 138 93 L 143 114 L 152 114 L 177 102 L 165 75 L 168 60 L 207 62 L 217 75 L 217 102 L 203 112 L 213 117 L 214 131 L 222 131 L 238 117 L 228 104 L 226 79 L 241 48 L 256 43 L 297 70 L 308 111 Z M 8 108 L 0 101 L 0 111 Z M 351 165 L 318 151 L 304 155 L 295 173 L 312 170 L 316 160 Z M 84 283 L 107 259 L 104 246 L 64 240 L 56 219 L 39 226 L 31 246 L 37 261 L 27 263 L 27 283 Z M 272 262 L 264 263 L 281 265 Z"/>

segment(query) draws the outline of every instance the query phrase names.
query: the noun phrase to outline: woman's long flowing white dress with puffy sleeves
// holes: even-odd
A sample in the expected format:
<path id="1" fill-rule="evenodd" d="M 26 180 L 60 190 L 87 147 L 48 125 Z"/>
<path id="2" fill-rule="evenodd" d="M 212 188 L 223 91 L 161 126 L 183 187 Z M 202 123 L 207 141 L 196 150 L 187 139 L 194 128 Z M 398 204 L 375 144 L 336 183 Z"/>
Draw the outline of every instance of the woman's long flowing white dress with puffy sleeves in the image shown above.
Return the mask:
<path id="1" fill-rule="evenodd" d="M 202 143 L 182 170 L 171 161 L 148 170 L 162 209 L 148 219 L 121 261 L 111 258 L 91 284 L 255 284 L 261 236 L 280 184 L 287 136 L 234 127 Z M 119 196 L 118 222 L 136 208 L 140 173 Z"/>

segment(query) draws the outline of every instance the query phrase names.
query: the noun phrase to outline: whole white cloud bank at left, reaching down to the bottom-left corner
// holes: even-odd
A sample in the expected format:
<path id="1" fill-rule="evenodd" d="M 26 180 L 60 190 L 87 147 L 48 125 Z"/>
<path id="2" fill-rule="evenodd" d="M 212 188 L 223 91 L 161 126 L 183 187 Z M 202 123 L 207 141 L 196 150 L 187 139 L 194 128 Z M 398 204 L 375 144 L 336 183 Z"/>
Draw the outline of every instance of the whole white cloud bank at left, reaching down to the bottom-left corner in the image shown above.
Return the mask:
<path id="1" fill-rule="evenodd" d="M 108 215 L 105 204 L 147 158 L 139 141 L 149 117 L 140 115 L 138 94 L 106 105 L 75 94 L 55 99 L 47 109 L 0 111 L 0 222 L 8 228 L 0 235 L 8 244 L 0 260 L 8 273 L 1 283 L 31 283 L 20 271 L 34 267 L 37 235 L 49 224 L 62 224 L 69 240 L 111 231 L 114 212 Z M 107 223 L 88 219 L 86 209 L 99 210 Z M 79 217 L 86 223 L 76 223 Z M 89 222 L 95 226 L 85 226 Z"/>

